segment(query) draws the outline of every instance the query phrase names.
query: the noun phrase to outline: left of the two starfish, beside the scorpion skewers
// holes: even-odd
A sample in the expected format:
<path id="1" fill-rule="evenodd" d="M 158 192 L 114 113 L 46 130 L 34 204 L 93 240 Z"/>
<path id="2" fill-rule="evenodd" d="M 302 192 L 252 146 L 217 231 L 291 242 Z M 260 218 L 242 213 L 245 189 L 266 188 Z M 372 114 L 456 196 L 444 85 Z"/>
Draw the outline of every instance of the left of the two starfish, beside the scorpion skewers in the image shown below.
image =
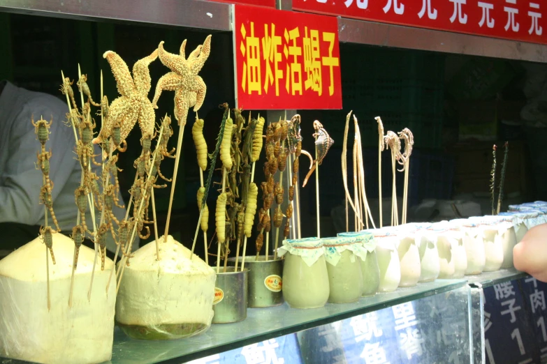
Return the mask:
<path id="1" fill-rule="evenodd" d="M 110 137 L 115 123 L 121 126 L 120 142 L 126 139 L 137 120 L 143 135 L 154 134 L 156 114 L 148 99 L 148 93 L 152 87 L 148 66 L 157 57 L 158 50 L 154 50 L 149 56 L 136 61 L 133 66 L 133 77 L 131 77 L 122 57 L 112 51 L 103 54 L 103 58 L 110 63 L 121 96 L 110 104 L 108 117 L 105 118 L 99 135 L 93 139 L 94 144 L 99 144 Z"/>

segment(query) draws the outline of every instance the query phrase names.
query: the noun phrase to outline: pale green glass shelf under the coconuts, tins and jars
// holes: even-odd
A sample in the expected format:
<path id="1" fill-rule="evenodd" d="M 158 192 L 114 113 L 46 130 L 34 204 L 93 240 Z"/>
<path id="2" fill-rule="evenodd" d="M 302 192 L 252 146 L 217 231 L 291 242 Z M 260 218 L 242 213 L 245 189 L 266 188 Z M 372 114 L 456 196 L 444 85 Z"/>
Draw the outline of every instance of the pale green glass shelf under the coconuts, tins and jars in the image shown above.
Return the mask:
<path id="1" fill-rule="evenodd" d="M 436 280 L 361 298 L 356 303 L 327 303 L 324 308 L 313 310 L 289 308 L 286 303 L 275 308 L 249 309 L 245 321 L 213 325 L 201 335 L 182 340 L 132 340 L 116 328 L 111 363 L 184 363 L 466 286 L 467 280 Z"/>

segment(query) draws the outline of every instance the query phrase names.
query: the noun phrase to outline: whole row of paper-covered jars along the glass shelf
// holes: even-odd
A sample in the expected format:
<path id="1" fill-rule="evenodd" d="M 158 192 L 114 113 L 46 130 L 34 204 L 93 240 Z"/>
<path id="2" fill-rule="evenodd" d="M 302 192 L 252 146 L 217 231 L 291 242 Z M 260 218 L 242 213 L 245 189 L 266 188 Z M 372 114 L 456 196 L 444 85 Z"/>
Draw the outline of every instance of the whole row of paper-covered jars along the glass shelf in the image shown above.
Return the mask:
<path id="1" fill-rule="evenodd" d="M 495 216 L 411 223 L 286 240 L 283 296 L 293 308 L 351 303 L 361 296 L 513 267 L 513 247 L 547 222 L 547 203 L 510 206 Z"/>

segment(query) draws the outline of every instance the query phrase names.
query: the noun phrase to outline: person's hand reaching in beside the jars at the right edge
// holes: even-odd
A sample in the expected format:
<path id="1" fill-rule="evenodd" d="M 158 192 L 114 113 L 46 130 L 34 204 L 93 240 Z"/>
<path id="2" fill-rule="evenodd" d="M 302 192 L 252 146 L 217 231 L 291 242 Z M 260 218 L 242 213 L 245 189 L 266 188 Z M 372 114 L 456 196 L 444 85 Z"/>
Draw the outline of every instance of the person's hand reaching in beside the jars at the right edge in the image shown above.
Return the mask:
<path id="1" fill-rule="evenodd" d="M 513 263 L 541 282 L 547 282 L 547 224 L 532 227 L 513 248 Z"/>

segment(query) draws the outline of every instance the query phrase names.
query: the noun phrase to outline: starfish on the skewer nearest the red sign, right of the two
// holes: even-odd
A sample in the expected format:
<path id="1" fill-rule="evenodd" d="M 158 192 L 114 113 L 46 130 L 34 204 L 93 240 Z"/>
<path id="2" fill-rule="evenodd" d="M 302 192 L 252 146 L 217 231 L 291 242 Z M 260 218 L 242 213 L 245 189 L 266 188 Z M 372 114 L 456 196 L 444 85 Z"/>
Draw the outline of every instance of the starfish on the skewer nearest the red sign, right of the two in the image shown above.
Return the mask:
<path id="1" fill-rule="evenodd" d="M 196 112 L 203 105 L 207 86 L 198 73 L 211 52 L 211 36 L 207 36 L 203 45 L 199 45 L 194 52 L 191 52 L 188 59 L 184 52 L 185 47 L 186 40 L 180 46 L 180 55 L 171 54 L 163 49 L 163 41 L 159 43 L 159 60 L 172 72 L 159 79 L 154 100 L 152 100 L 152 105 L 157 109 L 156 104 L 161 96 L 161 91 L 175 91 L 175 118 L 179 125 L 180 123 L 186 124 L 190 107 L 194 107 L 194 112 Z"/>

